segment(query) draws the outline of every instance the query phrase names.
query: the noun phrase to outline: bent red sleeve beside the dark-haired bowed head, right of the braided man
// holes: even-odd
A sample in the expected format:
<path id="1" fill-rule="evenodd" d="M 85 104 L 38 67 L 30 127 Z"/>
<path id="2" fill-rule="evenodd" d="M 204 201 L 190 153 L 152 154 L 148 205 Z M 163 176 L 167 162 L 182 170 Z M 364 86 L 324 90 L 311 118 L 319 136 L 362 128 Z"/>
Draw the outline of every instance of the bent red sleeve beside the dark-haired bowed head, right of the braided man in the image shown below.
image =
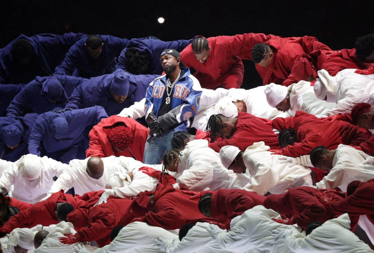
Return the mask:
<path id="1" fill-rule="evenodd" d="M 286 146 L 282 149 L 282 154 L 291 157 L 310 154 L 312 149 L 319 146 L 326 138 L 322 132 L 315 129 L 308 129 L 306 130 L 305 138 L 301 142 Z"/>

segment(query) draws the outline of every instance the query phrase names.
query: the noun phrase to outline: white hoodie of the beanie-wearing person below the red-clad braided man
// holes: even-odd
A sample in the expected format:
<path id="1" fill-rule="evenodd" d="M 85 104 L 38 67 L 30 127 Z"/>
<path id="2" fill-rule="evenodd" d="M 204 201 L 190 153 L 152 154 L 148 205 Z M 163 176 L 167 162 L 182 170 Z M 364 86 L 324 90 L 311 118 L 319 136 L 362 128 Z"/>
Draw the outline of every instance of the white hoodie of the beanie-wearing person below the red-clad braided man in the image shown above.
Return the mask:
<path id="1" fill-rule="evenodd" d="M 253 191 L 260 195 L 268 191 L 272 194 L 281 194 L 285 190 L 302 185 L 312 185 L 310 169 L 302 165 L 281 163 L 279 155 L 273 155 L 268 151 L 263 141 L 254 143 L 243 152 L 243 162 L 249 174 L 249 182 L 243 190 Z"/>

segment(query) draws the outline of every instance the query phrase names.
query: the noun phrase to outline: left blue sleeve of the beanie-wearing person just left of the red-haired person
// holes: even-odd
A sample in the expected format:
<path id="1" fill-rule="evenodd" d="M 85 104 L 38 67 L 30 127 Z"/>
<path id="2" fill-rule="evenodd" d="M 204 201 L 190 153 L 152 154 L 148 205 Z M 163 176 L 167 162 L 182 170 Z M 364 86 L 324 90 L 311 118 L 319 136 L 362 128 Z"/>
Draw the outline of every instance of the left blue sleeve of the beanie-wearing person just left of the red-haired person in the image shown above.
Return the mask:
<path id="1" fill-rule="evenodd" d="M 48 129 L 48 119 L 44 114 L 41 114 L 36 119 L 36 122 L 31 130 L 30 138 L 28 140 L 28 152 L 40 156 L 40 145 L 44 135 Z"/>

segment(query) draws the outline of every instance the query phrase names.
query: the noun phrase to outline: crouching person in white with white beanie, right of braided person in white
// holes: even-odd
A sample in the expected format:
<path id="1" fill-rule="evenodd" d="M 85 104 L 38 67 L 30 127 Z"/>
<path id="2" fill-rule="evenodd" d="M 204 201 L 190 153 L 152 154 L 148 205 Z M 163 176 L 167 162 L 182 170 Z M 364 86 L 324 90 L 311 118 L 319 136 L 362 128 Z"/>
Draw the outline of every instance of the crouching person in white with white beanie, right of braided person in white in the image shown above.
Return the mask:
<path id="1" fill-rule="evenodd" d="M 291 187 L 312 185 L 310 169 L 301 165 L 292 165 L 278 159 L 268 151 L 263 141 L 254 143 L 244 152 L 234 146 L 224 146 L 220 150 L 222 164 L 235 173 L 249 174 L 249 182 L 243 190 L 252 191 L 260 195 L 268 191 L 281 194 Z"/>

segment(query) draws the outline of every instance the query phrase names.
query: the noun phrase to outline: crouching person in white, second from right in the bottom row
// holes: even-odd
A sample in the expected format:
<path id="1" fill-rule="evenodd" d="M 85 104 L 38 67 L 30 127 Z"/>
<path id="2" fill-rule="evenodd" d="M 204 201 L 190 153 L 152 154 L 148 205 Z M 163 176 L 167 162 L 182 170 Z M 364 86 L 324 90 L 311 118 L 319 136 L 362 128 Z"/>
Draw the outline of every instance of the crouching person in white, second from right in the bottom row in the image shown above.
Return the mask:
<path id="1" fill-rule="evenodd" d="M 210 224 L 208 232 L 216 238 L 221 249 L 231 252 L 257 249 L 258 252 L 291 253 L 284 241 L 277 242 L 276 238 L 271 236 L 272 230 L 282 228 L 291 229 L 292 234 L 300 233 L 296 227 L 280 224 L 273 219 L 281 219 L 281 215 L 263 206 L 255 206 L 232 219 L 230 231 L 222 231 L 217 225 Z"/>

